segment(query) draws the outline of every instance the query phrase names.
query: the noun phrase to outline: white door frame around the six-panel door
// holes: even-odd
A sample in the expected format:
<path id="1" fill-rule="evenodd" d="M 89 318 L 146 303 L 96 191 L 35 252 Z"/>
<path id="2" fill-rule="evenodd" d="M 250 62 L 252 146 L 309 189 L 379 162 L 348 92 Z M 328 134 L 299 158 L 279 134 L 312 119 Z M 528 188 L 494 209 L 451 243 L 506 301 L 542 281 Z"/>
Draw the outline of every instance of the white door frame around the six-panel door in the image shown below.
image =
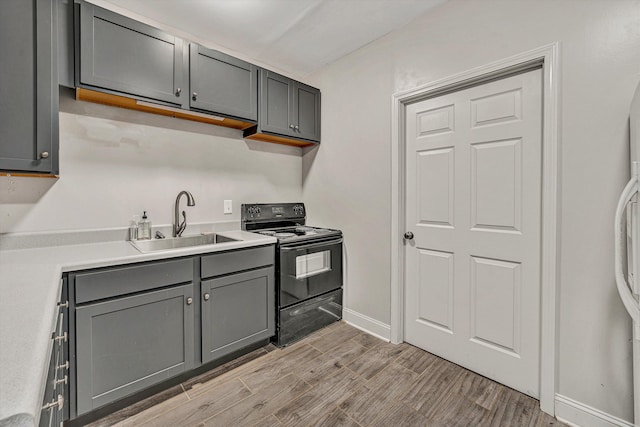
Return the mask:
<path id="1" fill-rule="evenodd" d="M 557 389 L 556 328 L 559 195 L 559 44 L 502 59 L 392 96 L 391 134 L 391 342 L 404 340 L 405 107 L 408 104 L 542 66 L 542 241 L 540 304 L 540 409 L 554 415 Z"/>

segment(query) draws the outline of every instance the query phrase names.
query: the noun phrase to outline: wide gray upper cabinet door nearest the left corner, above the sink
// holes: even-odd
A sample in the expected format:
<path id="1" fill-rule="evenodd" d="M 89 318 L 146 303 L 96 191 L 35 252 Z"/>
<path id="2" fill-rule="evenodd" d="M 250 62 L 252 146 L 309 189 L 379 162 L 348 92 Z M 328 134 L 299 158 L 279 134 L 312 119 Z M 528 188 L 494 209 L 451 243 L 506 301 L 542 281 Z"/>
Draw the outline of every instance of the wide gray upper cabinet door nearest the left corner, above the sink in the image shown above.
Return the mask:
<path id="1" fill-rule="evenodd" d="M 80 85 L 187 106 L 182 39 L 80 3 Z"/>

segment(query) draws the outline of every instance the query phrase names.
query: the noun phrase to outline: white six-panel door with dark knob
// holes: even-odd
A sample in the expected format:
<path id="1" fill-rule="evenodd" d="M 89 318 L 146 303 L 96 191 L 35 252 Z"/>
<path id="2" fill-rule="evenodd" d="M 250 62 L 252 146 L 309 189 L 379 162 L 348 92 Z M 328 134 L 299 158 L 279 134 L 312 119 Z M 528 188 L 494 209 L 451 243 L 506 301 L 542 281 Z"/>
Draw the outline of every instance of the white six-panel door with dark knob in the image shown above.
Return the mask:
<path id="1" fill-rule="evenodd" d="M 407 107 L 405 341 L 539 397 L 542 73 Z"/>

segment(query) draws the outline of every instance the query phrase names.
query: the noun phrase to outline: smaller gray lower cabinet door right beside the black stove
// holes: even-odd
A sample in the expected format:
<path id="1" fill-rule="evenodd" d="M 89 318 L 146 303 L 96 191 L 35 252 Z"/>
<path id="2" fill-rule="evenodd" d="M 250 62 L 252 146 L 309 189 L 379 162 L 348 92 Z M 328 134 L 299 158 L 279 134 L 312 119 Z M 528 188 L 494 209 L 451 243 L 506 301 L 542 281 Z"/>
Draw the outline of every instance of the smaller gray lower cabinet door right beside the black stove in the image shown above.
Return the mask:
<path id="1" fill-rule="evenodd" d="M 202 363 L 274 335 L 273 267 L 202 281 Z"/>

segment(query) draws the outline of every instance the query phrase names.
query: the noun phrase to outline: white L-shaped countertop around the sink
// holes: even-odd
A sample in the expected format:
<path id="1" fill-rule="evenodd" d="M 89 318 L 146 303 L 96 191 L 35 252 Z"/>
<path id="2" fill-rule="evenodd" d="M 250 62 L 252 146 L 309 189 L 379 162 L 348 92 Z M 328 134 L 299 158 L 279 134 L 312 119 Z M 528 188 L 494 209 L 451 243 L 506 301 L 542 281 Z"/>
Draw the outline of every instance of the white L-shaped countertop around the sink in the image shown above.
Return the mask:
<path id="1" fill-rule="evenodd" d="M 0 250 L 0 426 L 39 419 L 63 272 L 276 243 L 240 230 L 218 234 L 238 241 L 145 254 L 125 241 Z"/>

